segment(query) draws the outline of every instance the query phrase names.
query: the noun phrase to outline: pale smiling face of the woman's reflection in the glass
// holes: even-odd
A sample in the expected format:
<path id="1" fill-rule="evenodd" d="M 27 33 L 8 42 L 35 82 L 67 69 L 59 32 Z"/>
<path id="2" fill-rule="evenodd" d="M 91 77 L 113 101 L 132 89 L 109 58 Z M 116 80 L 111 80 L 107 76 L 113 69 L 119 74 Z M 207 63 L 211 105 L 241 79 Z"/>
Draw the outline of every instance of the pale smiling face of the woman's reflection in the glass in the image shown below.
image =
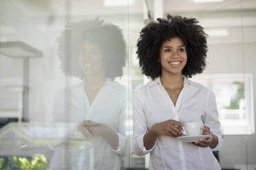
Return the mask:
<path id="1" fill-rule="evenodd" d="M 99 45 L 83 42 L 78 55 L 78 63 L 85 75 L 103 73 L 103 60 Z"/>

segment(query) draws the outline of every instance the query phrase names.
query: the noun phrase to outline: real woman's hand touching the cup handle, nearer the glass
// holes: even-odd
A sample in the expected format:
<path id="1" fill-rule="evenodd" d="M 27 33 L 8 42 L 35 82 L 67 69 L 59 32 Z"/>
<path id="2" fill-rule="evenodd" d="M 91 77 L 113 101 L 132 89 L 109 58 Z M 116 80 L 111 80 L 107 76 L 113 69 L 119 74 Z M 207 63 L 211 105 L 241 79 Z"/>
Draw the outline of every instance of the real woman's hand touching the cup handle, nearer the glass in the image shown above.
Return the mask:
<path id="1" fill-rule="evenodd" d="M 179 121 L 168 120 L 160 123 L 156 123 L 151 127 L 153 131 L 158 136 L 171 136 L 173 138 L 182 136 L 182 124 Z"/>

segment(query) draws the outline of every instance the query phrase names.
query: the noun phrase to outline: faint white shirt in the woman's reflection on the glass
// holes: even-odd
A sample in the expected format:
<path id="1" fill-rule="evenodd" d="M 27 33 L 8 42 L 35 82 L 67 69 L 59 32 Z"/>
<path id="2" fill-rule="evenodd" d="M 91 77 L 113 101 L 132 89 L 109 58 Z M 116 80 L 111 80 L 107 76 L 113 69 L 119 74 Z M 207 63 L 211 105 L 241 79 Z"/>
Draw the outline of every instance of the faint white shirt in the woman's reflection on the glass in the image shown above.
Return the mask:
<path id="1" fill-rule="evenodd" d="M 96 95 L 92 105 L 85 93 L 85 84 L 81 82 L 72 88 L 65 88 L 54 99 L 54 122 L 80 123 L 91 120 L 104 123 L 118 134 L 118 149 L 114 150 L 100 136 L 93 137 L 94 169 L 120 169 L 118 154 L 125 154 L 127 137 L 125 136 L 125 112 L 127 110 L 127 90 L 124 86 L 107 80 Z M 52 158 L 52 169 L 59 169 L 60 148 L 56 148 Z M 76 154 L 79 158 L 79 153 Z M 89 158 L 92 160 L 92 158 Z M 65 161 L 65 160 L 63 160 Z M 88 161 L 89 162 L 89 161 Z"/>

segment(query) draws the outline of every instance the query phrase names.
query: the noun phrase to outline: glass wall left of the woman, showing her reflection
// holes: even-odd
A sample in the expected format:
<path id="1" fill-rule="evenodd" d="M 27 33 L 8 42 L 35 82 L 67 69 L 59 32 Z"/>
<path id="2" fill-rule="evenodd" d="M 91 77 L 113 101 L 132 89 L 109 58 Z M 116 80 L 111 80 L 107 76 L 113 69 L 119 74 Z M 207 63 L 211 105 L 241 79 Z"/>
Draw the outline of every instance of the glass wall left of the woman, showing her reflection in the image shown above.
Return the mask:
<path id="1" fill-rule="evenodd" d="M 129 51 L 142 2 L 0 4 L 0 169 L 129 167 Z"/>

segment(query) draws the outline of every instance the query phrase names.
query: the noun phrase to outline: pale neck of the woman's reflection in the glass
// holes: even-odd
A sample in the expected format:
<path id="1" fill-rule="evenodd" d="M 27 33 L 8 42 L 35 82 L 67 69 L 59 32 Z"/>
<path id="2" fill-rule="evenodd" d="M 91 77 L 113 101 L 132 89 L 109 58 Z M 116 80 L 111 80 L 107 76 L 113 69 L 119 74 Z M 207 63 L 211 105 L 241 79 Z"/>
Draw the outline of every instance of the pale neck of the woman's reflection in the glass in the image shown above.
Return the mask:
<path id="1" fill-rule="evenodd" d="M 87 75 L 85 80 L 85 90 L 99 90 L 106 82 L 107 78 L 103 73 L 97 75 Z"/>

